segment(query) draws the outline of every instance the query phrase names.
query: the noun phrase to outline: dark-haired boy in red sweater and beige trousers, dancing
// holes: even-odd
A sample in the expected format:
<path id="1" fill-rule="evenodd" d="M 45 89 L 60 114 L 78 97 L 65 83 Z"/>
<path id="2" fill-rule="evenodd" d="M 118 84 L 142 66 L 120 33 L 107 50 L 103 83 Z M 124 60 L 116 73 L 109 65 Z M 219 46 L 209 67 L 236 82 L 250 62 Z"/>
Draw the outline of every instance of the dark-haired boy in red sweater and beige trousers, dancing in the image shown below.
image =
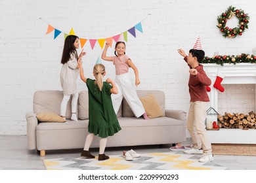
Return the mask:
<path id="1" fill-rule="evenodd" d="M 179 49 L 179 54 L 184 57 L 190 67 L 188 88 L 190 93 L 190 108 L 188 112 L 187 128 L 192 138 L 193 147 L 184 150 L 186 154 L 203 154 L 198 161 L 213 161 L 211 142 L 207 138 L 205 129 L 206 110 L 209 106 L 209 97 L 206 86 L 211 85 L 211 79 L 203 71 L 200 61 L 204 58 L 203 50 L 191 49 L 188 56 L 184 50 Z"/>

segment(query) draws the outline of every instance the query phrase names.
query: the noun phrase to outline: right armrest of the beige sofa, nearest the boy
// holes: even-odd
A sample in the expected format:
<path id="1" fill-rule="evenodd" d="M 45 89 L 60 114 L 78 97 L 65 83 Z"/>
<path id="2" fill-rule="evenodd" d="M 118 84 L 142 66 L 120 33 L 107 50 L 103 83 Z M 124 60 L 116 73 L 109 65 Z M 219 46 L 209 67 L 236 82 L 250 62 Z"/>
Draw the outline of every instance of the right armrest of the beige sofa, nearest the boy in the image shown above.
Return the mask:
<path id="1" fill-rule="evenodd" d="M 174 118 L 183 122 L 183 141 L 186 141 L 186 112 L 183 110 L 165 109 L 165 116 L 168 118 Z"/>

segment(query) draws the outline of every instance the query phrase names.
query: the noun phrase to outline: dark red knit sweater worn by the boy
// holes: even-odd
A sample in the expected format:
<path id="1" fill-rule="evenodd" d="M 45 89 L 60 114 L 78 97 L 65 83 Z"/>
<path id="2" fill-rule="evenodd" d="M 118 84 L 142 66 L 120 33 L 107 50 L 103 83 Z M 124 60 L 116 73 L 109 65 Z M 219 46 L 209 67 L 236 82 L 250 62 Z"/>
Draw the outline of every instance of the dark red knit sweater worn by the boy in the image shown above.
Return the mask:
<path id="1" fill-rule="evenodd" d="M 186 56 L 184 60 L 187 63 L 188 57 Z M 190 69 L 192 67 L 188 65 Z M 194 68 L 198 71 L 198 74 L 196 76 L 191 75 L 189 76 L 188 80 L 188 88 L 189 88 L 189 94 L 190 94 L 190 102 L 196 102 L 196 101 L 202 101 L 202 102 L 209 102 L 209 96 L 206 91 L 205 86 L 211 85 L 211 79 L 208 78 L 208 76 L 205 74 L 205 71 L 203 71 L 203 65 L 199 64 L 196 68 Z"/>

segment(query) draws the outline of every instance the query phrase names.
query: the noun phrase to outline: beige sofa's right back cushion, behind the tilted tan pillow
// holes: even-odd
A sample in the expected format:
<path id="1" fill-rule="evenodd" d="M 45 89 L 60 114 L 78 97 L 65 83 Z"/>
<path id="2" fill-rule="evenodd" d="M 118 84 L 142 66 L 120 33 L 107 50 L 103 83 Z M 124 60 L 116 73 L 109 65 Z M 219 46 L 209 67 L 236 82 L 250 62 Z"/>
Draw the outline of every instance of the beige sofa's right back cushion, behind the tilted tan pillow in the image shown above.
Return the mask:
<path id="1" fill-rule="evenodd" d="M 165 116 L 165 93 L 160 90 L 137 90 L 138 97 L 146 97 L 146 95 L 154 95 L 156 101 L 160 105 L 161 112 L 163 112 L 163 116 Z M 133 111 L 129 107 L 127 101 L 123 99 L 123 116 L 124 117 L 135 117 Z"/>

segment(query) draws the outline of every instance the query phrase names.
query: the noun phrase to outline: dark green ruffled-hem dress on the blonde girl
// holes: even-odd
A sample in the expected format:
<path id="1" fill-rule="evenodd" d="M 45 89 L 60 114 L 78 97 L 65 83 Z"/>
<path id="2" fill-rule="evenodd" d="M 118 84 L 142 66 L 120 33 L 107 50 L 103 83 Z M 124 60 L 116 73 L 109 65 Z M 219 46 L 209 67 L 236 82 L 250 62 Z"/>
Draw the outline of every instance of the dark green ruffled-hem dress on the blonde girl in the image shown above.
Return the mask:
<path id="1" fill-rule="evenodd" d="M 86 85 L 89 95 L 89 133 L 102 138 L 114 135 L 121 130 L 121 127 L 112 105 L 112 93 L 110 93 L 112 86 L 103 82 L 100 92 L 95 80 L 90 78 L 87 78 Z"/>

